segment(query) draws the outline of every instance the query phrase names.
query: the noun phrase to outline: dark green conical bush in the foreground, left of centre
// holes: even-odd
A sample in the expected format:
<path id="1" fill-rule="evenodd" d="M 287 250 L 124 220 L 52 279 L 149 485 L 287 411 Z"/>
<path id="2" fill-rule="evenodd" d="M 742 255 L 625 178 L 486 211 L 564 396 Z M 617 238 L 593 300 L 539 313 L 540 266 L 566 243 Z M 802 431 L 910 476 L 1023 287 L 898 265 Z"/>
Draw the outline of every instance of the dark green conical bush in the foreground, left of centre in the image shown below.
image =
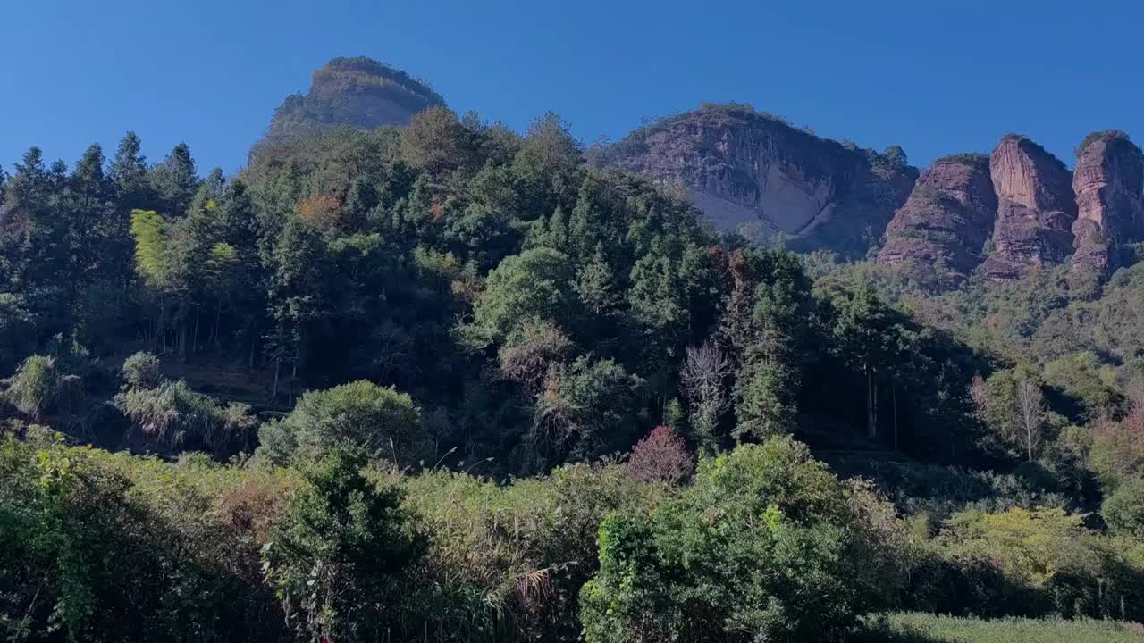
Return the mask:
<path id="1" fill-rule="evenodd" d="M 423 543 L 394 487 L 362 475 L 365 458 L 334 451 L 307 473 L 309 486 L 275 525 L 264 549 L 267 581 L 300 635 L 345 642 L 404 641 L 403 572 Z"/>

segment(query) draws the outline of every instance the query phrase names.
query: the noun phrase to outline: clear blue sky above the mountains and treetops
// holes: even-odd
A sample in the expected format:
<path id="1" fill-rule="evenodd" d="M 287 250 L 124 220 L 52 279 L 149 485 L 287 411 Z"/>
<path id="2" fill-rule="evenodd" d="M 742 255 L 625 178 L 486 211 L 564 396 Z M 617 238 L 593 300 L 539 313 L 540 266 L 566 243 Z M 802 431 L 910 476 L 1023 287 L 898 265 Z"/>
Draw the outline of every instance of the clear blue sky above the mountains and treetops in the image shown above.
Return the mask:
<path id="1" fill-rule="evenodd" d="M 0 165 L 73 162 L 125 130 L 239 168 L 334 56 L 428 79 L 516 129 L 553 110 L 586 142 L 740 101 L 914 164 L 1019 132 L 1072 164 L 1094 129 L 1144 141 L 1138 1 L 37 0 L 0 7 Z"/>

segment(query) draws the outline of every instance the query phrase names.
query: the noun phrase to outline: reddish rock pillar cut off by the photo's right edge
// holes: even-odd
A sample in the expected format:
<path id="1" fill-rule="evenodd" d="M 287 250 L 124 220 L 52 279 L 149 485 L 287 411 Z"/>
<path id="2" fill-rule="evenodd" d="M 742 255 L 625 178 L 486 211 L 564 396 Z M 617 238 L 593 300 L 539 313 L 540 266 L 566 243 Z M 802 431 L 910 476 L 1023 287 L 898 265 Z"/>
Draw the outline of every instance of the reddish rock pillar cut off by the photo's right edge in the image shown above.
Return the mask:
<path id="1" fill-rule="evenodd" d="M 1119 132 L 1089 135 L 1077 150 L 1073 172 L 1077 222 L 1072 272 L 1105 277 L 1119 265 L 1120 248 L 1144 239 L 1144 156 Z"/>

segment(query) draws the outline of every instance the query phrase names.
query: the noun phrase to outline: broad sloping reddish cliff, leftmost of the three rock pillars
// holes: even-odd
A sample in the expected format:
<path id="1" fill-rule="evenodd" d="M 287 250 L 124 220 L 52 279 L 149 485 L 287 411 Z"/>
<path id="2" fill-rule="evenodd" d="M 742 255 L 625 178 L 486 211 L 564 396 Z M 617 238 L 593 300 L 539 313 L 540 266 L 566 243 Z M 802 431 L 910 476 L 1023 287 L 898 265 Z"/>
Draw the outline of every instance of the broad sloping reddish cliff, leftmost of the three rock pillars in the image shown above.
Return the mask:
<path id="1" fill-rule="evenodd" d="M 988 157 L 938 159 L 895 213 L 877 262 L 908 268 L 935 286 L 960 284 L 982 261 L 996 207 Z"/>

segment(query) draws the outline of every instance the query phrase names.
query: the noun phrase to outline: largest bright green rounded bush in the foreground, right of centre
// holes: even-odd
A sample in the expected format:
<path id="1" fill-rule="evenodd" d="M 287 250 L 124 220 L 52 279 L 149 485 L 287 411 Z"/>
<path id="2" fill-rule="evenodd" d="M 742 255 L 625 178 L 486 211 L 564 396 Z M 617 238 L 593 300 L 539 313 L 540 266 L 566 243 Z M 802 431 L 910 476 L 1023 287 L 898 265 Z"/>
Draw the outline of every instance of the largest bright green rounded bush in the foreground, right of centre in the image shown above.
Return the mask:
<path id="1" fill-rule="evenodd" d="M 581 593 L 585 637 L 809 641 L 849 629 L 899 578 L 883 564 L 898 555 L 895 527 L 868 513 L 892 521 L 892 509 L 855 495 L 791 438 L 700 461 L 680 500 L 604 521 L 599 572 Z"/>

